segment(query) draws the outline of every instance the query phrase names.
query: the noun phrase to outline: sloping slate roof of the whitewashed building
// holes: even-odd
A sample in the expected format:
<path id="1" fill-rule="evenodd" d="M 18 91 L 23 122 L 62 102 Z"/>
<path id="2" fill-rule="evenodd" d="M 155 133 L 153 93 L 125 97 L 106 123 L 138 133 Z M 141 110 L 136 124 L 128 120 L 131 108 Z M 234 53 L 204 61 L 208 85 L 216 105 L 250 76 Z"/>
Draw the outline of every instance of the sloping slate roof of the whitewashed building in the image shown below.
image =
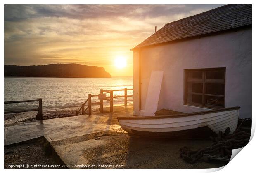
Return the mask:
<path id="1" fill-rule="evenodd" d="M 135 48 L 251 25 L 251 5 L 224 5 L 167 23 Z"/>

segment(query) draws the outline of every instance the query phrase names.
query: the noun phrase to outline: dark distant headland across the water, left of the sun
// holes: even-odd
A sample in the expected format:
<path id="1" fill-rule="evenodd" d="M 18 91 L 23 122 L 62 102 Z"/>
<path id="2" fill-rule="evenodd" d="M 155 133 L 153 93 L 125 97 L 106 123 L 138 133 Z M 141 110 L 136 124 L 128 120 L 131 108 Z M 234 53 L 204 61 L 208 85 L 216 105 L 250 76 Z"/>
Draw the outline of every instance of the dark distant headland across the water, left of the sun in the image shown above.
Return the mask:
<path id="1" fill-rule="evenodd" d="M 5 65 L 5 77 L 111 78 L 103 67 L 81 64 Z"/>

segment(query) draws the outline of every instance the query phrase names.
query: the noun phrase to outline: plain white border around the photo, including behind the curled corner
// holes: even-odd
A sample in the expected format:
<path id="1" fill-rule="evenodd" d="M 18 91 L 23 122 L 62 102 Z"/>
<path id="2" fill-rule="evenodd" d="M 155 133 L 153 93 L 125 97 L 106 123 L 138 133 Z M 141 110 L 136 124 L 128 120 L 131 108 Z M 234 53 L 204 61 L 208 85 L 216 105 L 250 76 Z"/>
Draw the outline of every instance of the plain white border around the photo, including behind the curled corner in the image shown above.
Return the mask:
<path id="1" fill-rule="evenodd" d="M 1 6 L 1 12 L 2 12 L 2 20 L 4 19 L 4 4 L 191 4 L 191 2 L 193 2 L 194 4 L 253 4 L 254 1 L 252 0 L 243 0 L 243 1 L 238 1 L 238 0 L 208 0 L 208 1 L 203 1 L 203 0 L 194 0 L 194 1 L 191 1 L 191 0 L 147 0 L 147 1 L 139 1 L 139 0 L 125 0 L 125 1 L 120 1 L 120 0 L 93 0 L 93 1 L 88 1 L 88 0 L 55 0 L 55 1 L 52 1 L 52 0 L 37 0 L 37 1 L 34 1 L 34 0 L 23 0 L 23 1 L 18 1 L 18 0 L 3 0 L 2 1 L 3 4 Z M 253 9 L 254 9 L 254 4 L 253 4 Z M 254 12 L 253 12 L 253 19 L 254 19 Z M 1 53 L 2 53 L 2 56 L 4 57 L 4 22 L 2 21 L 2 26 L 1 26 L 1 38 L 2 38 L 2 46 L 1 46 Z M 255 28 L 255 24 L 253 22 L 253 27 L 252 28 Z M 255 34 L 254 34 L 254 30 L 252 31 L 252 47 L 254 47 L 254 39 L 255 39 Z M 1 80 L 1 89 L 2 89 L 2 92 L 0 93 L 1 94 L 1 111 L 2 111 L 2 116 L 3 116 L 3 110 L 4 110 L 4 58 L 1 58 L 1 65 L 2 65 L 2 68 L 0 70 L 0 73 L 1 73 L 1 76 L 2 76 L 2 80 Z M 252 57 L 254 57 L 254 52 L 252 53 Z M 256 74 L 256 71 L 255 71 L 255 64 L 254 64 L 254 58 L 252 58 L 252 75 L 255 76 Z M 255 85 L 255 80 L 254 78 L 252 79 L 252 88 L 255 88 L 256 85 Z M 255 97 L 255 91 L 253 90 L 252 91 L 252 98 L 256 98 Z M 252 107 L 254 108 L 255 105 L 255 101 L 252 100 Z M 253 114 L 253 128 L 252 128 L 252 132 L 254 134 L 254 131 L 255 131 L 255 109 L 252 110 L 252 114 Z M 1 153 L 0 155 L 2 156 L 2 159 L 1 159 L 1 162 L 2 162 L 2 169 L 4 167 L 4 128 L 3 128 L 3 125 L 4 122 L 3 122 L 3 117 L 2 117 L 2 133 L 1 133 L 1 140 L 2 140 L 2 150 L 1 150 Z M 251 136 L 252 138 L 252 136 Z M 255 155 L 255 140 L 254 139 L 251 139 L 250 143 L 244 147 L 244 149 L 242 150 L 242 152 L 240 152 L 234 159 L 232 159 L 232 161 L 230 161 L 230 163 L 225 166 L 225 168 L 216 168 L 216 169 L 172 169 L 172 170 L 168 170 L 168 169 L 161 169 L 159 171 L 161 172 L 168 172 L 170 173 L 171 172 L 189 172 L 189 173 L 200 173 L 200 172 L 214 172 L 214 171 L 218 171 L 220 170 L 219 172 L 251 172 L 254 170 L 255 166 L 255 159 L 254 159 L 254 155 Z M 8 170 L 8 169 L 5 169 L 4 170 L 5 172 L 14 172 L 14 171 L 21 171 L 21 172 L 25 172 L 28 173 L 28 172 L 34 172 L 35 170 Z M 36 170 L 37 172 L 45 172 L 46 170 L 43 170 L 43 169 L 38 169 Z M 56 171 L 56 170 L 47 170 L 47 172 L 53 172 L 53 171 Z M 60 170 L 62 172 L 68 172 L 70 170 Z M 73 170 L 72 170 L 73 171 Z M 103 170 L 100 170 L 100 169 L 96 169 L 96 170 L 77 170 L 78 172 L 82 172 L 82 171 L 89 171 L 89 172 L 117 172 L 117 171 L 122 171 L 122 172 L 130 172 L 132 170 L 130 169 L 124 169 L 124 170 L 119 170 L 119 169 L 116 169 L 116 170 L 107 170 L 107 169 L 103 169 Z M 147 172 L 156 172 L 158 170 L 154 170 L 154 169 L 149 169 L 147 170 Z"/>

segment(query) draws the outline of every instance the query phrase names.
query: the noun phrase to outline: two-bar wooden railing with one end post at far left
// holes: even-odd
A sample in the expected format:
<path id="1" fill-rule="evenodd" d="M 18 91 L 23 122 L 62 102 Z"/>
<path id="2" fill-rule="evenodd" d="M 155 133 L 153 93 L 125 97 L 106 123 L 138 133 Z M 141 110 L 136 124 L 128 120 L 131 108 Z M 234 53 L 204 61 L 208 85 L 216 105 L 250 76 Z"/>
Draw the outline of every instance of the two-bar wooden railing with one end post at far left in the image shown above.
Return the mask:
<path id="1" fill-rule="evenodd" d="M 36 120 L 43 120 L 43 106 L 42 106 L 42 99 L 37 100 L 21 100 L 21 101 L 5 101 L 5 104 L 14 104 L 14 103 L 27 103 L 27 102 L 39 102 L 39 106 L 37 109 L 24 109 L 24 110 L 17 110 L 17 111 L 5 111 L 7 113 L 20 113 L 20 112 L 30 112 L 30 111 L 38 111 L 36 115 Z"/>

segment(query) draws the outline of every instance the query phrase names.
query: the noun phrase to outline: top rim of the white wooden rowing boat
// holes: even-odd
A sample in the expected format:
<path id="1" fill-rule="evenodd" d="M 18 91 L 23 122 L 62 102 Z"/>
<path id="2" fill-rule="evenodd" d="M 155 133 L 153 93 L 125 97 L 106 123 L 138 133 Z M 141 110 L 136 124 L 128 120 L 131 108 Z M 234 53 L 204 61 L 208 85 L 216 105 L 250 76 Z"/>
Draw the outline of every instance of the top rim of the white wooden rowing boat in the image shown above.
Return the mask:
<path id="1" fill-rule="evenodd" d="M 164 119 L 164 118 L 179 118 L 179 117 L 187 117 L 187 116 L 194 116 L 194 115 L 204 115 L 208 113 L 217 113 L 223 111 L 232 111 L 232 110 L 239 110 L 240 106 L 230 107 L 230 108 L 221 108 L 221 109 L 214 109 L 210 111 L 201 111 L 201 112 L 193 112 L 193 113 L 180 113 L 174 115 L 159 115 L 159 116 L 133 116 L 133 117 L 117 117 L 118 120 L 140 120 L 140 119 Z"/>

